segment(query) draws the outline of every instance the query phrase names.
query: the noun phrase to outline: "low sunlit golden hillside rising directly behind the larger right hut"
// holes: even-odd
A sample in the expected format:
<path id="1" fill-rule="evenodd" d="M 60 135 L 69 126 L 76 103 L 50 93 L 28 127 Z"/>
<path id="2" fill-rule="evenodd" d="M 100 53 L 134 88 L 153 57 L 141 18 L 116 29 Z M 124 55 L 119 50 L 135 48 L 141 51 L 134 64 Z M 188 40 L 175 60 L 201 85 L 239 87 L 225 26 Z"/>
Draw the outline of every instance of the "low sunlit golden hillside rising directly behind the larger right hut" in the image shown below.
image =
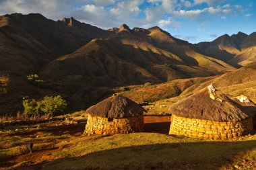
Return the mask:
<path id="1" fill-rule="evenodd" d="M 253 99 L 253 101 L 256 101 L 255 80 L 256 62 L 251 62 L 241 69 L 220 76 L 177 79 L 148 87 L 131 86 L 129 87 L 129 91 L 120 92 L 122 95 L 130 97 L 138 103 L 142 103 L 143 101 L 153 102 L 153 105 L 146 106 L 149 110 L 148 114 L 162 114 L 163 112 L 168 113 L 168 106 L 172 105 L 172 103 L 207 87 L 211 83 L 232 97 L 246 95 L 250 99 Z"/>

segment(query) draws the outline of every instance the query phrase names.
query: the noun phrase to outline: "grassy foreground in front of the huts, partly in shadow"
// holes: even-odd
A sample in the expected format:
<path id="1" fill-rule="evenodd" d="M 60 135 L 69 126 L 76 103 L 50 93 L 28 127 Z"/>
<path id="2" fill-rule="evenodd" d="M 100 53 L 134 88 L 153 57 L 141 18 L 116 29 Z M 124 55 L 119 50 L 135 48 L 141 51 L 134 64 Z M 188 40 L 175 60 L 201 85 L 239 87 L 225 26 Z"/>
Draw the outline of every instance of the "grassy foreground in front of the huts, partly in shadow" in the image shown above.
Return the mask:
<path id="1" fill-rule="evenodd" d="M 0 132 L 0 169 L 253 169 L 256 135 L 201 140 L 143 132 L 83 136 L 79 124 L 9 126 Z M 19 154 L 33 141 L 34 153 Z"/>

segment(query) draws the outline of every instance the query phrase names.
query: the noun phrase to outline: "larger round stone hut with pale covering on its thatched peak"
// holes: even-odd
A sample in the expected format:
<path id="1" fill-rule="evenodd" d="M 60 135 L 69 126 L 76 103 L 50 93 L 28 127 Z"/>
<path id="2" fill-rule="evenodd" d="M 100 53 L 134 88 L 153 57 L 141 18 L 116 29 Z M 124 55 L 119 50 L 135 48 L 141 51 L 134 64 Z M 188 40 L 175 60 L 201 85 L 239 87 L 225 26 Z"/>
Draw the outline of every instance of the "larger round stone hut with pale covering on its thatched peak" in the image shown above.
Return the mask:
<path id="1" fill-rule="evenodd" d="M 253 130 L 251 115 L 213 86 L 174 103 L 169 111 L 172 113 L 169 134 L 226 139 Z"/>

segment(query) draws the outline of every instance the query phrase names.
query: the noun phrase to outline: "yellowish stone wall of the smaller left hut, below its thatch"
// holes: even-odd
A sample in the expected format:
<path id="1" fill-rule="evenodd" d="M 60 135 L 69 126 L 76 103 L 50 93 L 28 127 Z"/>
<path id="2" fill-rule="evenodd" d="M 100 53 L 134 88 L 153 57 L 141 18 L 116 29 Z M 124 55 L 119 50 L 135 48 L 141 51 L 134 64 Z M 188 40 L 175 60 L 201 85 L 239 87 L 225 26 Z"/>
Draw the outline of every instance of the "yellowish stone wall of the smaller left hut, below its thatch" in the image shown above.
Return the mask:
<path id="1" fill-rule="evenodd" d="M 143 116 L 129 118 L 101 118 L 88 115 L 84 134 L 117 134 L 143 132 Z"/>

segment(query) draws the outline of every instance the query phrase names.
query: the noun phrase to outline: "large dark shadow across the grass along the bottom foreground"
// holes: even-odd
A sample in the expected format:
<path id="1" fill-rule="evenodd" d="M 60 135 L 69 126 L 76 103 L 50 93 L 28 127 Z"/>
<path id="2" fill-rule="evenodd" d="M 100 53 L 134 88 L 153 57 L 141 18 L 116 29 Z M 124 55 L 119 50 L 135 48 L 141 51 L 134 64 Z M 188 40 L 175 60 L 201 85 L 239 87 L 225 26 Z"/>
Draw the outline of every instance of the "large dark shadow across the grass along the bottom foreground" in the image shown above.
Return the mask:
<path id="1" fill-rule="evenodd" d="M 20 169 L 232 169 L 232 159 L 256 140 L 202 141 L 113 148 Z"/>

